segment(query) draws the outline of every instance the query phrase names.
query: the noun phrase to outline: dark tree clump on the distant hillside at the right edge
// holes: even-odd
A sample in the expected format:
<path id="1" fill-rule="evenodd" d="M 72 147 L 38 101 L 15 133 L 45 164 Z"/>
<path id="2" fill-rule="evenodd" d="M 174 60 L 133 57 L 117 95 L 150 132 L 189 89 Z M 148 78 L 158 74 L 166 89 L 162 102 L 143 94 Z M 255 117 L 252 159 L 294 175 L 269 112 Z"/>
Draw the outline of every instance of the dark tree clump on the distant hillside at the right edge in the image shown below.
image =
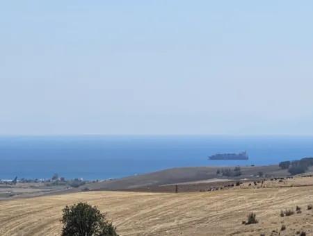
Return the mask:
<path id="1" fill-rule="evenodd" d="M 284 161 L 279 163 L 281 169 L 288 169 L 290 174 L 302 174 L 308 167 L 313 166 L 313 158 L 302 158 L 300 160 Z"/>

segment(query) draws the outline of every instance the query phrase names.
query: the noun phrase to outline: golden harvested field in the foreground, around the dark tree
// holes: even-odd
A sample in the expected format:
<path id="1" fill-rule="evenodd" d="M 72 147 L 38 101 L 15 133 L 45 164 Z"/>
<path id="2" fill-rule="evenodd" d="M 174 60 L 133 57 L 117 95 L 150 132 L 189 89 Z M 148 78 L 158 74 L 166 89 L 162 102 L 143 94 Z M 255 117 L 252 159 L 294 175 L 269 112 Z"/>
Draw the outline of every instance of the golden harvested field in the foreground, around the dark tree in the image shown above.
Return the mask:
<path id="1" fill-rule="evenodd" d="M 86 201 L 108 212 L 120 235 L 313 235 L 313 187 L 195 193 L 81 192 L 0 202 L 0 235 L 60 235 L 62 208 Z M 300 206 L 301 213 L 280 217 Z M 249 212 L 257 224 L 244 225 Z M 281 231 L 282 225 L 286 229 Z"/>

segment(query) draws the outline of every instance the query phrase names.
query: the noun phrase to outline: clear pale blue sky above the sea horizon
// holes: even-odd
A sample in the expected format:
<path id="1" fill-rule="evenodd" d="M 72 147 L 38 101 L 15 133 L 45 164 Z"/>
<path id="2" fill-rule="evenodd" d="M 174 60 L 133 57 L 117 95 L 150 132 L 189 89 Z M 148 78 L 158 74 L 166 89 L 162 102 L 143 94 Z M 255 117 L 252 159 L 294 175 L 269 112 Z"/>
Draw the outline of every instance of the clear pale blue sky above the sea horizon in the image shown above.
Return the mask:
<path id="1" fill-rule="evenodd" d="M 2 1 L 0 134 L 313 135 L 313 1 Z"/>

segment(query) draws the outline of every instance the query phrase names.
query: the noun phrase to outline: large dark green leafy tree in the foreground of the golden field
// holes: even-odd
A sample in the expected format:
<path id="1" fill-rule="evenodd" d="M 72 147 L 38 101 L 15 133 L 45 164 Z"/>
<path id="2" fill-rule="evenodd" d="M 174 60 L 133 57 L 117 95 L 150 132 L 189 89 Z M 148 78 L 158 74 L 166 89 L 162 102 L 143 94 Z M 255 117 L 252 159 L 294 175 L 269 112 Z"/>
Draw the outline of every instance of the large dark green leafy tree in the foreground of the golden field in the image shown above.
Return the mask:
<path id="1" fill-rule="evenodd" d="M 97 206 L 77 203 L 63 209 L 62 236 L 118 236 Z"/>

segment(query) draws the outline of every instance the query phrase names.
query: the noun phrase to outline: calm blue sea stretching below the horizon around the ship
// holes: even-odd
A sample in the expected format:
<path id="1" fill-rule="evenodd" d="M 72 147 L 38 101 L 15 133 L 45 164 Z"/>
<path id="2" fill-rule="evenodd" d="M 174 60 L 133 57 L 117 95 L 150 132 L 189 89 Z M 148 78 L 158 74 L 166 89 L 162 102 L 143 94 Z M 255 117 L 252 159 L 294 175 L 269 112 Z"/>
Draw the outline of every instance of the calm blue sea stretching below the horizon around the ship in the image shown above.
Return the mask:
<path id="1" fill-rule="evenodd" d="M 207 160 L 247 151 L 249 160 Z M 0 137 L 0 179 L 121 178 L 172 167 L 270 165 L 313 156 L 313 137 L 51 136 Z"/>

